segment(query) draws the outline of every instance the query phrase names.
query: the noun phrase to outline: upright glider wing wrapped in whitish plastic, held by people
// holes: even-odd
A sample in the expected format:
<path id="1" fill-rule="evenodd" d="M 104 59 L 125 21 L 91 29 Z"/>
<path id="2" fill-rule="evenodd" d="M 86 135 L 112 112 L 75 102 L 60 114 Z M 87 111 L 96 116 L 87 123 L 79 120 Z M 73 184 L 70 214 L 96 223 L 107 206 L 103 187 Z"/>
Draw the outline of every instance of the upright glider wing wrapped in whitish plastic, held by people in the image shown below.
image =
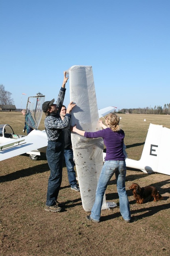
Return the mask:
<path id="1" fill-rule="evenodd" d="M 67 74 L 70 81 L 70 102 L 76 103 L 71 112 L 71 126 L 76 124 L 78 129 L 86 132 L 100 130 L 92 66 L 72 66 Z M 82 206 L 86 212 L 90 212 L 103 166 L 103 139 L 90 139 L 72 133 L 71 140 Z M 102 210 L 107 208 L 104 195 Z"/>

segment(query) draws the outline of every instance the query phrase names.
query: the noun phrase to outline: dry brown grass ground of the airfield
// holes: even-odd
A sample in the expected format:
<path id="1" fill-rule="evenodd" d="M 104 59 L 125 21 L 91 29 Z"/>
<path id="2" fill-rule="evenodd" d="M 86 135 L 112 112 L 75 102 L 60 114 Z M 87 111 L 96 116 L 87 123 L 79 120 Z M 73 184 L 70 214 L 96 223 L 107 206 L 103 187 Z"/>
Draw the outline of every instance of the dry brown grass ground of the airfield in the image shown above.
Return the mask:
<path id="1" fill-rule="evenodd" d="M 119 116 L 128 157 L 135 160 L 141 157 L 150 123 L 170 128 L 170 116 Z M 43 119 L 40 130 L 44 129 Z M 10 124 L 15 133 L 22 134 L 21 113 L 0 112 L 0 123 Z M 86 220 L 80 193 L 70 190 L 65 165 L 59 192 L 59 202 L 65 203 L 63 211 L 46 212 L 48 177 L 45 154 L 38 161 L 24 154 L 0 162 L 0 256 L 170 255 L 170 176 L 127 169 L 131 223 L 121 218 L 115 176 L 107 187 L 106 200 L 116 202 L 118 207 L 103 210 L 100 223 Z M 133 182 L 140 186 L 152 184 L 164 200 L 135 204 L 129 190 Z"/>

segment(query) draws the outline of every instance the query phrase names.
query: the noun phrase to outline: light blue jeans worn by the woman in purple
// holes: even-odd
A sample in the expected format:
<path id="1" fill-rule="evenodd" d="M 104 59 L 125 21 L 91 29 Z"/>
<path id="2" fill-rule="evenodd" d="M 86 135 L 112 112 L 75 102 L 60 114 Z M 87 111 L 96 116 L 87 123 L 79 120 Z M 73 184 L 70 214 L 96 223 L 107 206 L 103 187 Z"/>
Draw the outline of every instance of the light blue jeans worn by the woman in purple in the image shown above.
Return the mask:
<path id="1" fill-rule="evenodd" d="M 129 200 L 125 190 L 126 163 L 125 161 L 106 161 L 102 168 L 98 186 L 96 189 L 96 199 L 91 211 L 91 218 L 100 220 L 102 202 L 107 184 L 115 173 L 117 192 L 119 195 L 120 213 L 124 220 L 131 219 Z"/>

